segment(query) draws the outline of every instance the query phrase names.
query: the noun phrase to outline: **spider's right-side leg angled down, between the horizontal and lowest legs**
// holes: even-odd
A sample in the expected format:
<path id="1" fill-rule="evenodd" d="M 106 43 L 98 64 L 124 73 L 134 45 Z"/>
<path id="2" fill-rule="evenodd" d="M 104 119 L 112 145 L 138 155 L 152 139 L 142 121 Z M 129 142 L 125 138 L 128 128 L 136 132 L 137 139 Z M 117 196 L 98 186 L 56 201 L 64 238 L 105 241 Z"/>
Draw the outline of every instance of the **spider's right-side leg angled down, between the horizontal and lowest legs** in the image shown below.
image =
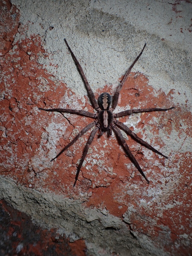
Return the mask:
<path id="1" fill-rule="evenodd" d="M 146 141 L 142 140 L 140 137 L 137 136 L 137 134 L 135 134 L 134 132 L 132 132 L 126 125 L 124 125 L 123 123 L 119 122 L 119 121 L 114 121 L 114 123 L 116 125 L 118 125 L 122 130 L 124 130 L 127 134 L 131 135 L 136 141 L 138 141 L 139 143 L 141 143 L 142 145 L 144 145 L 145 147 L 151 149 L 152 151 L 154 151 L 155 153 L 165 157 L 168 159 L 167 156 L 163 155 L 162 153 L 160 153 L 158 150 L 156 150 L 154 147 L 152 147 L 150 144 L 148 144 Z"/>

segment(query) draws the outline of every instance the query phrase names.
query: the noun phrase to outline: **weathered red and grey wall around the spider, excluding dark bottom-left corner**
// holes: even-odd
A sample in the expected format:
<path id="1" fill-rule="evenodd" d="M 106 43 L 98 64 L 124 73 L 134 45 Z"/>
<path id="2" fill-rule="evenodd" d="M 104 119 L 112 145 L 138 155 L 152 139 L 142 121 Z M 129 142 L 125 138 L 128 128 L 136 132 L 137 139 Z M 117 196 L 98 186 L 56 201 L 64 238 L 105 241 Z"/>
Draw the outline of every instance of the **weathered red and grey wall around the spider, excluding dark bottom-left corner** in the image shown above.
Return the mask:
<path id="1" fill-rule="evenodd" d="M 1 7 L 1 199 L 69 243 L 81 238 L 87 255 L 189 255 L 191 3 L 13 0 Z M 75 188 L 90 132 L 50 162 L 92 121 L 38 109 L 93 112 L 64 38 L 96 98 L 114 94 L 147 43 L 115 111 L 175 106 L 120 119 L 169 157 L 123 134 L 149 185 L 114 134 L 95 137 Z"/>

